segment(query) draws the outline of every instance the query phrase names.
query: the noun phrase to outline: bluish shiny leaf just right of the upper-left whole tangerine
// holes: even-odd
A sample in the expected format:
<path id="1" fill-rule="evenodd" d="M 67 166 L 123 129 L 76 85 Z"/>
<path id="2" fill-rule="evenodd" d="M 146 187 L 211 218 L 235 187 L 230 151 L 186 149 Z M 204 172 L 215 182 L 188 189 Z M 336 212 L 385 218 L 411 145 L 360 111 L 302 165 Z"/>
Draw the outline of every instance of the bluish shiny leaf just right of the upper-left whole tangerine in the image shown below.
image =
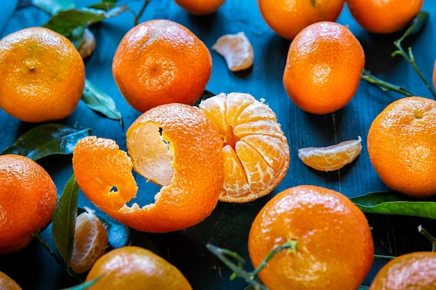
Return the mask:
<path id="1" fill-rule="evenodd" d="M 102 90 L 94 86 L 91 81 L 86 80 L 84 93 L 81 96 L 81 99 L 83 99 L 86 106 L 92 110 L 102 113 L 107 116 L 107 118 L 119 120 L 121 122 L 122 116 L 120 111 L 118 111 L 118 108 L 116 108 L 114 100 L 109 95 L 102 92 Z"/>

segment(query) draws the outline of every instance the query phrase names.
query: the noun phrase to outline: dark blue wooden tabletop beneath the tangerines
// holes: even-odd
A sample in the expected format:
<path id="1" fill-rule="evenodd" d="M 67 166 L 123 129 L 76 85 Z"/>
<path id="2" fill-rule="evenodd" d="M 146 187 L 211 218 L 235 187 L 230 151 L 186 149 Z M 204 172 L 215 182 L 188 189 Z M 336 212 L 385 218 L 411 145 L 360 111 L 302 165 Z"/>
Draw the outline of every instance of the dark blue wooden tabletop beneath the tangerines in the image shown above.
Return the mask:
<path id="1" fill-rule="evenodd" d="M 77 7 L 83 7 L 96 1 L 75 1 Z M 120 1 L 124 2 L 124 1 Z M 138 11 L 142 1 L 127 1 L 132 10 Z M 24 29 L 40 26 L 49 15 L 31 6 L 30 1 L 6 1 L 2 3 L 0 16 L 0 36 Z M 436 58 L 436 2 L 426 1 L 423 10 L 430 18 L 423 29 L 405 42 L 413 47 L 416 63 L 423 74 L 431 79 Z M 240 278 L 229 280 L 231 271 L 224 266 L 206 248 L 212 243 L 222 248 L 238 252 L 247 259 L 247 269 L 251 269 L 247 251 L 247 237 L 251 221 L 261 207 L 270 198 L 291 186 L 313 184 L 325 186 L 354 197 L 372 191 L 387 191 L 373 170 L 366 150 L 366 135 L 375 116 L 395 99 L 403 97 L 396 92 L 382 92 L 376 86 L 361 81 L 359 89 L 350 104 L 345 108 L 327 115 L 312 115 L 297 108 L 286 95 L 281 81 L 286 54 L 290 45 L 275 34 L 263 21 L 256 1 L 227 0 L 219 11 L 206 17 L 189 15 L 172 0 L 151 0 L 140 22 L 148 19 L 171 19 L 187 26 L 208 48 L 215 40 L 226 33 L 244 31 L 254 47 L 254 65 L 249 70 L 230 72 L 224 58 L 215 51 L 212 54 L 212 77 L 207 90 L 220 92 L 248 92 L 257 99 L 264 98 L 272 110 L 277 113 L 279 123 L 288 138 L 290 146 L 290 168 L 283 182 L 265 198 L 247 204 L 219 203 L 212 215 L 202 223 L 179 232 L 168 234 L 148 234 L 127 230 L 113 237 L 113 245 L 146 245 L 151 241 L 162 255 L 176 265 L 191 282 L 194 290 L 242 290 L 247 284 Z M 412 90 L 416 95 L 431 97 L 419 77 L 400 57 L 391 57 L 395 50 L 393 41 L 400 34 L 376 35 L 361 29 L 348 8 L 338 18 L 338 22 L 348 25 L 364 47 L 366 69 L 373 74 Z M 92 27 L 97 40 L 93 55 L 86 59 L 86 78 L 107 92 L 115 100 L 123 115 L 124 127 L 119 122 L 104 118 L 91 111 L 83 102 L 70 117 L 59 121 L 76 129 L 91 128 L 92 134 L 116 140 L 120 148 L 125 147 L 125 131 L 139 116 L 121 97 L 111 75 L 111 61 L 118 42 L 133 26 L 133 15 L 125 13 Z M 346 80 L 344 80 L 346 81 Z M 0 96 L 1 97 L 1 96 Z M 12 144 L 15 139 L 38 124 L 21 122 L 0 110 L 0 150 Z M 361 136 L 363 150 L 355 162 L 335 172 L 311 170 L 297 157 L 301 147 L 319 147 L 332 145 L 343 140 Z M 52 175 L 59 193 L 72 175 L 71 157 L 48 156 L 38 161 Z M 154 195 L 156 188 L 139 181 L 142 194 Z M 95 209 L 84 195 L 79 196 L 79 206 Z M 102 214 L 98 211 L 98 214 Z M 104 216 L 104 214 L 102 214 Z M 400 255 L 415 250 L 430 250 L 430 244 L 417 231 L 423 225 L 436 233 L 434 220 L 405 216 L 367 215 L 371 227 L 375 251 L 379 255 Z M 114 233 L 112 233 L 114 234 Z M 52 245 L 50 228 L 43 238 Z M 332 237 L 334 239 L 334 237 Z M 376 260 L 364 285 L 369 285 L 378 269 L 386 263 Z M 24 290 L 52 290 L 71 287 L 77 284 L 65 273 L 63 268 L 36 241 L 29 247 L 12 255 L 0 256 L 0 271 L 13 277 Z"/>

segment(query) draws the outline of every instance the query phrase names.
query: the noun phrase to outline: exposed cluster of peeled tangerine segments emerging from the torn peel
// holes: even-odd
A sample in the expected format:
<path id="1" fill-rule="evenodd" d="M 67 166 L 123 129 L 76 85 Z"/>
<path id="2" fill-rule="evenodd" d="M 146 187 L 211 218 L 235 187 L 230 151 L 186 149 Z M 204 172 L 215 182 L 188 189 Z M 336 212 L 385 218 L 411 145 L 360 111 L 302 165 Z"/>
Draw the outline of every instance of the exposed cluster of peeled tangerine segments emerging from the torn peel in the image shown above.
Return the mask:
<path id="1" fill-rule="evenodd" d="M 289 168 L 289 146 L 272 109 L 240 92 L 199 105 L 217 124 L 224 147 L 222 202 L 250 202 L 267 195 Z"/>

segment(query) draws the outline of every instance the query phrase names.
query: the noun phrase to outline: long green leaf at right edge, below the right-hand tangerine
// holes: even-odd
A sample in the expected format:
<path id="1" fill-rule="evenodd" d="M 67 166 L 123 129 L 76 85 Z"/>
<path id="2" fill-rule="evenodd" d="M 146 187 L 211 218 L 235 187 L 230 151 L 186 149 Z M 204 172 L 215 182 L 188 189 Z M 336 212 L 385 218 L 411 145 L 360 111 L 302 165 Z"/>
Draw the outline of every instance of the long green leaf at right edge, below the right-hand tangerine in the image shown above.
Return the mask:
<path id="1" fill-rule="evenodd" d="M 369 214 L 396 214 L 436 219 L 436 198 L 410 198 L 394 191 L 374 192 L 350 198 L 361 211 Z"/>

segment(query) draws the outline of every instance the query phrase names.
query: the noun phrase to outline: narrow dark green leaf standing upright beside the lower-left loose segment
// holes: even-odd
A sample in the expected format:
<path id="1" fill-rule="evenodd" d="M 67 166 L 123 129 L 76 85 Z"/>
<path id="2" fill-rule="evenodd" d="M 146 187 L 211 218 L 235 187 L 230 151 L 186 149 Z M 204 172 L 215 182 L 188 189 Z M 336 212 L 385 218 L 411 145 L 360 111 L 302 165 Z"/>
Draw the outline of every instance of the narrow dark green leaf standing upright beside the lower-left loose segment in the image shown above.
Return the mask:
<path id="1" fill-rule="evenodd" d="M 72 175 L 65 184 L 53 213 L 52 236 L 54 245 L 67 265 L 71 259 L 72 246 L 74 245 L 78 194 L 79 186 L 75 176 Z"/>

